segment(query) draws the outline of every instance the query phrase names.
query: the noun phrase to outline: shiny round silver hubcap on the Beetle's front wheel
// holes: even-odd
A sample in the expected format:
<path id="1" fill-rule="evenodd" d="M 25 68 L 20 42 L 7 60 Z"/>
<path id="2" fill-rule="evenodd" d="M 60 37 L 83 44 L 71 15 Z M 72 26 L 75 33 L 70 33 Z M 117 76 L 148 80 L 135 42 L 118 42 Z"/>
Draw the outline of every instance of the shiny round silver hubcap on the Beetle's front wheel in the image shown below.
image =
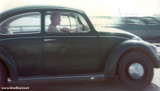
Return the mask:
<path id="1" fill-rule="evenodd" d="M 140 63 L 131 64 L 128 71 L 129 76 L 135 80 L 140 79 L 144 76 L 144 68 Z"/>

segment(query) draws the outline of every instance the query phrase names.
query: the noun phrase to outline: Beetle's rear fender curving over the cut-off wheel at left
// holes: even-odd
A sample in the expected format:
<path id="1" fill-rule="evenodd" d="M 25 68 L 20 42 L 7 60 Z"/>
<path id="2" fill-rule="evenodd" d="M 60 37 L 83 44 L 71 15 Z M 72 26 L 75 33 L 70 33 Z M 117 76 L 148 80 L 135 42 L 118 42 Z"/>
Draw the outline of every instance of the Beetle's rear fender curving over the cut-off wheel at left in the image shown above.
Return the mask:
<path id="1" fill-rule="evenodd" d="M 11 78 L 13 81 L 18 80 L 18 72 L 15 60 L 4 48 L 0 48 L 0 61 L 4 64 L 6 70 L 8 70 L 7 73 L 9 78 Z"/>

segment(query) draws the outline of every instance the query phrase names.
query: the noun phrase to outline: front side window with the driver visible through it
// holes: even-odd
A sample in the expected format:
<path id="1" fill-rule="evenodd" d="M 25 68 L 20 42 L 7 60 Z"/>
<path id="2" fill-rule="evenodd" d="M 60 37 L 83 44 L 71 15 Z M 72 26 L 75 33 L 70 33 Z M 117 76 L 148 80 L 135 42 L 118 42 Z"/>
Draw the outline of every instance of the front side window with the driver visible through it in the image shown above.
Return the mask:
<path id="1" fill-rule="evenodd" d="M 81 15 L 62 11 L 46 12 L 45 32 L 48 34 L 86 33 L 89 31 L 89 26 Z"/>

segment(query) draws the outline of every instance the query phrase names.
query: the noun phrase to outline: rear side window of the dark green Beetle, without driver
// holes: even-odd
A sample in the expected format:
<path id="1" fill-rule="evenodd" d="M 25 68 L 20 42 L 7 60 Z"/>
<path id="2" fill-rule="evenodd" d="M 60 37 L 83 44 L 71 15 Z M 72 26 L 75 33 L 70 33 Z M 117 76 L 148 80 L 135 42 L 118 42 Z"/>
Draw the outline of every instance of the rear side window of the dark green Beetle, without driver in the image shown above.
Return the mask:
<path id="1" fill-rule="evenodd" d="M 0 34 L 34 34 L 41 32 L 41 15 L 38 12 L 23 13 L 10 17 L 0 24 Z"/>

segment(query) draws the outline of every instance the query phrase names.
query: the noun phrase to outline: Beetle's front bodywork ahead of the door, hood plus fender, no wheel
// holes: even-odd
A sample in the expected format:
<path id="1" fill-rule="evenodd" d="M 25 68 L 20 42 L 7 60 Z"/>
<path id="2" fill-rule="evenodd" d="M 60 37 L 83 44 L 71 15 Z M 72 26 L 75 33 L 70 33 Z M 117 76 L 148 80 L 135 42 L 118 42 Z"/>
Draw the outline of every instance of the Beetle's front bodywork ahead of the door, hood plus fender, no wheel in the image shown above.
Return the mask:
<path id="1" fill-rule="evenodd" d="M 127 37 L 124 34 L 132 36 Z M 101 28 L 99 30 L 100 58 L 103 60 L 101 67 L 104 67 L 102 69 L 104 69 L 104 75 L 106 78 L 113 77 L 116 74 L 116 67 L 121 56 L 128 51 L 141 51 L 147 53 L 147 55 L 153 58 L 153 60 L 157 60 L 154 65 L 155 67 L 159 67 L 159 55 L 153 45 L 141 40 L 128 40 L 134 38 L 133 36 L 134 35 L 129 32 L 114 28 Z M 108 43 L 106 41 L 116 42 Z"/>

